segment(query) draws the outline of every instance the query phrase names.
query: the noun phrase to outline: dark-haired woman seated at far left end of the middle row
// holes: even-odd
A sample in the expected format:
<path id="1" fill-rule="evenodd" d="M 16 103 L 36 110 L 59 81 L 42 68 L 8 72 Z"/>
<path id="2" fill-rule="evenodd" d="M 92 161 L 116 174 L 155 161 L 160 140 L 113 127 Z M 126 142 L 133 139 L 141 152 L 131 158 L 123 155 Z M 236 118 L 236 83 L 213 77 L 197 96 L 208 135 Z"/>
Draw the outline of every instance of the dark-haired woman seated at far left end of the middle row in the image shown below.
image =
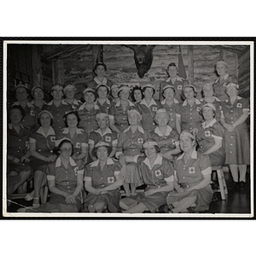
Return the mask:
<path id="1" fill-rule="evenodd" d="M 26 182 L 26 179 L 31 173 L 31 166 L 28 163 L 30 161 L 30 152 L 28 150 L 30 131 L 28 128 L 21 125 L 21 120 L 24 116 L 24 109 L 20 106 L 12 106 L 9 108 L 9 125 L 7 129 L 8 199 L 10 199 L 13 192 L 18 189 L 21 184 Z"/>

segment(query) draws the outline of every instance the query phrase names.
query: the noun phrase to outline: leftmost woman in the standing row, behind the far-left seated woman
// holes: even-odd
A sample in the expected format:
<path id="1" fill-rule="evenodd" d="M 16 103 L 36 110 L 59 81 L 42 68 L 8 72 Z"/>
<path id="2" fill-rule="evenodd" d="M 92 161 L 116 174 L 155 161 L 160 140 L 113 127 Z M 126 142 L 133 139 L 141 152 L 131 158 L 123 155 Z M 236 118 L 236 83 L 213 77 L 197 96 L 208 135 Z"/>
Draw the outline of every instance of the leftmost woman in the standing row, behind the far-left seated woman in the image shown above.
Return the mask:
<path id="1" fill-rule="evenodd" d="M 12 106 L 20 106 L 25 111 L 25 116 L 21 120 L 21 124 L 35 130 L 38 128 L 38 113 L 40 113 L 40 108 L 32 105 L 28 102 L 29 90 L 25 84 L 18 84 L 15 88 L 15 97 L 17 102 Z"/>

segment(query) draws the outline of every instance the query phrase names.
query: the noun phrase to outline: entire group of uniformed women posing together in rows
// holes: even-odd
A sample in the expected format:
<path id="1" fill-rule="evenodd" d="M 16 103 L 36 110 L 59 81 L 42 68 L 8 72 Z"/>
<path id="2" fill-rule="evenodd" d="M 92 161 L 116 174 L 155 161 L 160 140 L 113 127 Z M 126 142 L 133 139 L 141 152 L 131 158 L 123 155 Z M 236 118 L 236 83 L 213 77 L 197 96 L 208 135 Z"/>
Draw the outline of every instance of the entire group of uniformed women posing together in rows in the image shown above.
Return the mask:
<path id="1" fill-rule="evenodd" d="M 53 86 L 49 103 L 42 87 L 32 88 L 34 100 L 28 102 L 26 85 L 16 86 L 17 102 L 9 108 L 9 198 L 33 173 L 30 211 L 78 212 L 83 177 L 85 212 L 155 212 L 166 202 L 169 212 L 207 210 L 211 166 L 224 163 L 234 188 L 245 189 L 249 103 L 238 96 L 227 63 L 218 61 L 219 78 L 203 86 L 198 100 L 195 86 L 177 76 L 172 62 L 169 78 L 160 83 L 160 102 L 153 84 L 112 84 L 106 69 L 96 65 L 84 102 L 74 98 L 71 84 Z M 52 195 L 40 206 L 47 180 Z M 137 194 L 142 184 L 145 193 Z M 126 197 L 120 201 L 122 185 Z"/>

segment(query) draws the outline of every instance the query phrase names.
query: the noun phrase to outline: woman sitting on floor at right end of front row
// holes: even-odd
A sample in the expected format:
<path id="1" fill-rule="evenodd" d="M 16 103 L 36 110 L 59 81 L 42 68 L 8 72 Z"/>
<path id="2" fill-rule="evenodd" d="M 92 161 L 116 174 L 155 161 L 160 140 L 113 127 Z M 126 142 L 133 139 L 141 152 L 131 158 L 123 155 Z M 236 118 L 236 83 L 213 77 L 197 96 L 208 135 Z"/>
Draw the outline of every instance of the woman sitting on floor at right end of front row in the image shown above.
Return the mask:
<path id="1" fill-rule="evenodd" d="M 166 197 L 169 212 L 206 211 L 213 195 L 211 161 L 207 154 L 195 151 L 195 137 L 189 131 L 183 131 L 179 141 L 183 154 L 174 161 L 176 191 Z"/>

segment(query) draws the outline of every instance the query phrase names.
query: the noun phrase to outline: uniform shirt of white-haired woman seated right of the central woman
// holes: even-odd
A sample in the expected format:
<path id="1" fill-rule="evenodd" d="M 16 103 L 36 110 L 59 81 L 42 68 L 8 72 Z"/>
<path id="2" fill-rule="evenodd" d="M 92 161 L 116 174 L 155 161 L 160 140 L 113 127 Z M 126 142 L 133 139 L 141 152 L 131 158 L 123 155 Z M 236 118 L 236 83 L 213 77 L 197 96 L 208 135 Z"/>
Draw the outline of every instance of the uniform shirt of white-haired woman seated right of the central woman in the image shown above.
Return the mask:
<path id="1" fill-rule="evenodd" d="M 157 143 L 164 142 L 162 146 L 159 146 L 162 154 L 175 149 L 178 143 L 178 132 L 176 130 L 172 130 L 172 127 L 168 125 L 166 135 L 163 135 L 159 127 L 156 127 L 154 131 L 150 132 L 150 137 L 152 137 Z M 168 142 L 167 140 L 171 140 L 172 143 Z"/>

